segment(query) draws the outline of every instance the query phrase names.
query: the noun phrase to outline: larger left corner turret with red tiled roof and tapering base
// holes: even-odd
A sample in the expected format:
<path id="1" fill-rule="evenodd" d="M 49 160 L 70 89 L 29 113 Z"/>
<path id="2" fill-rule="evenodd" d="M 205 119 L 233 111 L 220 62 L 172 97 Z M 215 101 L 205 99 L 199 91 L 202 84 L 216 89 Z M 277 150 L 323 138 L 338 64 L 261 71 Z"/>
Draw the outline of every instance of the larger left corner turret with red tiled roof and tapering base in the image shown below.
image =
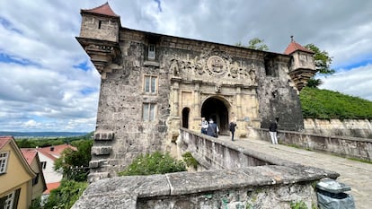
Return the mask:
<path id="1" fill-rule="evenodd" d="M 111 10 L 108 3 L 81 10 L 80 14 L 82 24 L 80 36 L 76 39 L 91 57 L 102 79 L 105 79 L 106 73 L 112 71 L 110 65 L 113 64 L 113 59 L 120 55 L 120 16 Z"/>

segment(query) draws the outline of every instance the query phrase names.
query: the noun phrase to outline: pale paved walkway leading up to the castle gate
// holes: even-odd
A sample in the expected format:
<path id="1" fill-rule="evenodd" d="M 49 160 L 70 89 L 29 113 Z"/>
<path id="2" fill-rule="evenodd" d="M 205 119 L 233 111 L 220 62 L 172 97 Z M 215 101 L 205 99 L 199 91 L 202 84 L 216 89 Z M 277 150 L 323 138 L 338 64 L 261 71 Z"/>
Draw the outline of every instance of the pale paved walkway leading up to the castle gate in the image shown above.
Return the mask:
<path id="1" fill-rule="evenodd" d="M 351 161 L 345 158 L 297 149 L 281 144 L 270 144 L 269 142 L 257 139 L 237 139 L 231 141 L 229 136 L 221 135 L 218 139 L 241 146 L 251 148 L 257 152 L 265 152 L 278 158 L 294 161 L 306 166 L 332 170 L 340 173 L 337 181 L 351 187 L 348 192 L 354 197 L 356 208 L 372 208 L 372 164 Z"/>

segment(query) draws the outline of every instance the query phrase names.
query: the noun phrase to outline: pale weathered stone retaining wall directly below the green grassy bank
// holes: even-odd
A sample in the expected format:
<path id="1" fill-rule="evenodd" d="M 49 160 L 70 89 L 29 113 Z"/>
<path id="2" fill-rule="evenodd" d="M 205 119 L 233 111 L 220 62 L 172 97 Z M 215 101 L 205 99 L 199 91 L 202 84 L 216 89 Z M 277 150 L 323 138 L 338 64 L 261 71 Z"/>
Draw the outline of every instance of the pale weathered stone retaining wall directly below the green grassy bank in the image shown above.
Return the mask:
<path id="1" fill-rule="evenodd" d="M 372 121 L 368 119 L 305 119 L 305 132 L 372 139 Z"/>

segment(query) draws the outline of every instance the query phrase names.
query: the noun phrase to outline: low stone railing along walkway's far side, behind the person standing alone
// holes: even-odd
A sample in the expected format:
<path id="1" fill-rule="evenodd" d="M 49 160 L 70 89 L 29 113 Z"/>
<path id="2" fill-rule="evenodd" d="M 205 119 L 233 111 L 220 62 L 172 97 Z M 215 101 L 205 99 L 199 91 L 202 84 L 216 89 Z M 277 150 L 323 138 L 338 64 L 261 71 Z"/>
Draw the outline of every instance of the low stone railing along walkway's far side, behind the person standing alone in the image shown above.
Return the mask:
<path id="1" fill-rule="evenodd" d="M 270 142 L 268 129 L 252 128 L 252 131 L 257 138 Z M 372 139 L 279 131 L 278 140 L 279 144 L 372 161 Z"/>

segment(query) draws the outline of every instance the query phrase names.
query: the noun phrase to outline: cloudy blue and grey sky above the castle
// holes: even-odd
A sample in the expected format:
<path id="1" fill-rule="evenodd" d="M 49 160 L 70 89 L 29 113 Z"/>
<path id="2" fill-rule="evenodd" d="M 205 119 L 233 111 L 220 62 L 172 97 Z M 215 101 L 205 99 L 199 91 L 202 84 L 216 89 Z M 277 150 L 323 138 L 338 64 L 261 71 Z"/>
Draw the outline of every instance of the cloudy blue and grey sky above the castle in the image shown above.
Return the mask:
<path id="1" fill-rule="evenodd" d="M 94 130 L 100 74 L 75 37 L 80 9 L 106 0 L 0 0 L 0 131 Z M 333 57 L 321 88 L 372 100 L 372 1 L 110 0 L 121 24 L 235 45 L 290 36 Z"/>

